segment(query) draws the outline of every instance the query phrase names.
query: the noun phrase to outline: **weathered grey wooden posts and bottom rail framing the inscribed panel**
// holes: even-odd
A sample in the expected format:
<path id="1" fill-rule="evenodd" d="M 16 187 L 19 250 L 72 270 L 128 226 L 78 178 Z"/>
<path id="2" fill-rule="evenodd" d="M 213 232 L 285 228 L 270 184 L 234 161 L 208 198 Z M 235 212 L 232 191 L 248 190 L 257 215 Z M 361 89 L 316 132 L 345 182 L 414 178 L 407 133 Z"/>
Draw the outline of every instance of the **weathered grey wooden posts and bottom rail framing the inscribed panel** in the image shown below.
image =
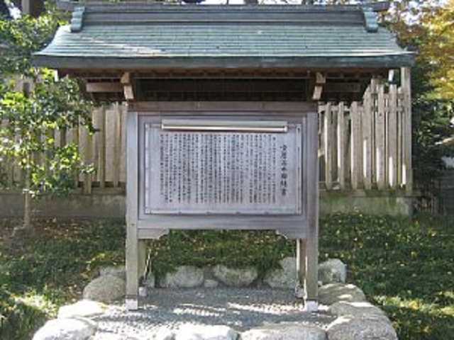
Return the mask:
<path id="1" fill-rule="evenodd" d="M 262 108 L 262 106 L 260 106 Z M 262 108 L 263 110 L 263 108 Z M 196 111 L 194 111 L 196 113 Z M 224 112 L 224 111 L 221 111 Z M 255 112 L 255 111 L 254 111 Z M 299 111 L 294 111 L 299 113 Z M 195 115 L 194 113 L 194 115 Z M 304 114 L 304 115 L 303 115 Z M 150 115 L 150 113 L 148 113 Z M 308 312 L 314 312 L 318 310 L 318 239 L 319 239 L 319 165 L 318 165 L 318 115 L 316 110 L 313 108 L 310 111 L 301 111 L 301 116 L 305 118 L 289 118 L 289 121 L 297 121 L 297 125 L 292 123 L 289 125 L 294 129 L 301 130 L 301 137 L 296 139 L 284 140 L 286 144 L 282 146 L 281 157 L 282 166 L 278 167 L 277 174 L 279 175 L 279 183 L 283 188 L 287 188 L 287 171 L 289 169 L 289 162 L 287 153 L 284 150 L 294 149 L 295 154 L 301 154 L 301 166 L 297 166 L 297 170 L 294 172 L 294 177 L 300 179 L 297 181 L 299 193 L 297 198 L 302 202 L 300 215 L 278 215 L 278 216 L 267 216 L 262 217 L 263 220 L 260 225 L 257 224 L 256 219 L 258 217 L 252 216 L 240 216 L 242 218 L 238 224 L 243 229 L 262 229 L 267 227 L 277 227 L 279 232 L 284 232 L 288 237 L 297 239 L 297 268 L 299 276 L 299 288 L 298 297 L 304 298 L 305 310 Z M 140 116 L 139 126 L 139 113 L 129 111 L 127 118 L 127 187 L 126 187 L 126 224 L 127 224 L 127 237 L 126 237 L 126 308 L 128 310 L 137 310 L 138 305 L 138 291 L 140 278 L 145 274 L 145 240 L 148 238 L 159 238 L 162 234 L 165 234 L 165 230 L 175 228 L 187 228 L 188 220 L 201 219 L 199 216 L 187 216 L 184 217 L 183 221 L 173 219 L 170 221 L 172 216 L 159 215 L 157 217 L 148 214 L 145 210 L 146 200 L 144 188 L 148 188 L 147 181 L 144 181 L 143 176 L 139 176 L 140 173 L 148 173 L 150 169 L 146 166 L 148 164 L 147 158 L 145 157 L 145 145 L 150 145 L 150 140 L 147 139 L 146 135 L 146 122 L 150 120 L 147 117 Z M 201 121 L 200 121 L 201 122 Z M 198 122 L 198 124 L 200 124 Z M 211 122 L 211 120 L 210 120 Z M 181 123 L 181 122 L 180 122 Z M 244 122 L 243 122 L 244 123 Z M 212 123 L 214 124 L 214 123 Z M 159 125 L 158 125 L 159 126 Z M 162 126 L 162 125 L 161 125 Z M 181 126 L 181 125 L 178 125 Z M 186 125 L 185 125 L 186 126 Z M 199 126 L 199 125 L 197 125 Z M 211 126 L 211 125 L 210 125 Z M 296 128 L 295 128 L 296 126 Z M 287 137 L 292 137 L 290 132 L 286 132 Z M 296 132 L 295 132 L 296 133 Z M 281 136 L 282 137 L 282 136 Z M 259 137 L 257 137 L 259 138 Z M 165 140 L 164 138 L 162 140 Z M 278 140 L 278 139 L 277 139 Z M 301 143 L 301 144 L 300 144 Z M 153 141 L 153 145 L 157 145 L 156 140 Z M 265 148 L 262 148 L 265 149 Z M 160 149 L 155 149 L 159 152 Z M 173 149 L 172 149 L 173 150 Z M 179 152 L 179 149 L 176 149 Z M 297 151 L 299 150 L 299 151 Z M 142 156 L 142 157 L 140 157 Z M 265 157 L 266 158 L 266 157 Z M 177 157 L 174 154 L 173 161 Z M 299 159 L 299 158 L 297 158 Z M 263 161 L 265 162 L 265 161 Z M 298 163 L 297 161 L 297 164 Z M 141 169 L 141 170 L 140 170 Z M 147 170 L 148 169 L 148 170 Z M 177 169 L 177 168 L 175 168 Z M 274 168 L 273 168 L 274 169 Z M 285 169 L 285 177 L 282 176 L 282 169 Z M 140 171 L 139 171 L 140 170 Z M 178 172 L 177 170 L 175 170 Z M 280 171 L 280 172 L 279 172 Z M 157 174 L 156 171 L 151 171 L 152 174 Z M 156 175 L 157 176 L 157 175 Z M 139 178 L 140 177 L 140 178 Z M 139 184 L 140 183 L 140 184 Z M 282 184 L 284 183 L 284 184 Z M 153 192 L 158 192 L 156 189 Z M 288 194 L 288 191 L 282 191 Z M 286 194 L 282 195 L 286 195 Z M 301 195 L 301 196 L 299 196 Z M 140 201 L 142 197 L 143 201 Z M 146 198 L 147 196 L 145 196 Z M 139 209 L 140 207 L 140 209 Z M 175 214 L 174 214 L 175 215 Z M 140 217 L 140 218 L 139 218 Z M 304 217 L 304 218 L 303 218 Z M 236 229 L 238 225 L 228 225 L 225 217 L 213 216 L 216 218 L 218 223 L 215 225 L 216 229 Z M 147 220 L 148 219 L 148 220 Z M 153 225 L 153 219 L 155 224 Z M 166 219 L 169 222 L 166 222 Z M 145 222 L 144 222 L 145 220 Z M 174 224 L 174 221 L 181 222 L 180 228 Z M 167 224 L 166 224 L 167 223 Z M 170 224 L 172 223 L 172 224 Z M 284 229 L 282 225 L 290 225 L 288 229 Z M 203 227 L 206 225 L 197 225 L 197 227 Z M 212 227 L 212 226 L 210 226 Z M 246 228 L 245 228 L 246 227 Z M 280 229 L 279 229 L 280 227 Z M 163 228 L 163 229 L 160 229 Z M 288 232 L 288 233 L 286 233 Z"/>

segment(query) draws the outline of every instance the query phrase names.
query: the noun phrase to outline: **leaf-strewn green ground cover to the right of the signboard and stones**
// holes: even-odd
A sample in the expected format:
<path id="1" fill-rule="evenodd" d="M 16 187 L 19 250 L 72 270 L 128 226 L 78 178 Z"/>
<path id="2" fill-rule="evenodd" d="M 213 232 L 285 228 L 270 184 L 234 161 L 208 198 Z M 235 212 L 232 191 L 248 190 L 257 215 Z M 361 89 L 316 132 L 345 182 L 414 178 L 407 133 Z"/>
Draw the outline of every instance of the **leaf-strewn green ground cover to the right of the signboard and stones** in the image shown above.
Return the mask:
<path id="1" fill-rule="evenodd" d="M 349 280 L 382 306 L 399 339 L 454 339 L 453 225 L 431 215 L 332 215 L 321 226 L 321 258 L 348 264 Z"/>

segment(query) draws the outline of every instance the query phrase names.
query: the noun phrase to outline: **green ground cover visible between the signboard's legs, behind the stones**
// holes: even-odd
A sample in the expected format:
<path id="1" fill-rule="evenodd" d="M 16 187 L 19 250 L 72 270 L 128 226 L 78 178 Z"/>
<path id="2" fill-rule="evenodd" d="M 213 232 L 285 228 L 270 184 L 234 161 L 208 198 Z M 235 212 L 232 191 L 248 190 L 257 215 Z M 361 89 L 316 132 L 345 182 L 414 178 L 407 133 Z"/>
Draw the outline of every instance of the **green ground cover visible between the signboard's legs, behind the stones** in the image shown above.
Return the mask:
<path id="1" fill-rule="evenodd" d="M 177 266 L 256 266 L 263 276 L 277 268 L 294 246 L 275 232 L 172 231 L 150 242 L 152 270 L 157 277 Z"/>

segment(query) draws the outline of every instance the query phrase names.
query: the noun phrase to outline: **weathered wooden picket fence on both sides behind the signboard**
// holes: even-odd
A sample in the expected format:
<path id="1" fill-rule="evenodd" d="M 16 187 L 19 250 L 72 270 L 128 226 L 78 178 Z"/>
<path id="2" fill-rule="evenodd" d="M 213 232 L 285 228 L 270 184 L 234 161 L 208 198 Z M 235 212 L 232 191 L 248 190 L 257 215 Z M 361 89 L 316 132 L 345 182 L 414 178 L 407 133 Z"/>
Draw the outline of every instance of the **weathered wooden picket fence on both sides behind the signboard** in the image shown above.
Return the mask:
<path id="1" fill-rule="evenodd" d="M 374 80 L 364 100 L 319 104 L 321 188 L 327 191 L 411 191 L 411 111 L 409 89 Z M 55 131 L 55 142 L 79 145 L 82 159 L 94 174 L 74 181 L 83 193 L 92 188 L 124 188 L 126 181 L 126 105 L 116 103 L 92 113 L 98 132 L 83 128 Z M 5 123 L 5 122 L 3 122 Z M 7 183 L 23 180 L 21 171 L 6 164 Z"/>

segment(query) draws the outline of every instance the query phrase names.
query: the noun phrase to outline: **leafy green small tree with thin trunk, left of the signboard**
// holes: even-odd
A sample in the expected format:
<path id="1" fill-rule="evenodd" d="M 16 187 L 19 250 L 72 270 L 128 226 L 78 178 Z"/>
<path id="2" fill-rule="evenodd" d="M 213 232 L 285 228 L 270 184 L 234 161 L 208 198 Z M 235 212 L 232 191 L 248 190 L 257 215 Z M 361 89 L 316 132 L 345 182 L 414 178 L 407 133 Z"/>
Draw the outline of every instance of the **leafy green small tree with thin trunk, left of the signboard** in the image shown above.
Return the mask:
<path id="1" fill-rule="evenodd" d="M 89 164 L 82 163 L 77 145 L 56 146 L 53 137 L 54 130 L 65 132 L 78 125 L 93 132 L 91 103 L 82 97 L 76 81 L 57 80 L 54 72 L 31 63 L 32 53 L 45 46 L 60 21 L 55 11 L 39 18 L 0 20 L 0 40 L 8 49 L 0 55 L 0 76 L 9 79 L 0 84 L 0 121 L 7 122 L 0 127 L 0 159 L 23 170 L 23 183 L 16 184 L 23 188 L 23 227 L 28 230 L 32 198 L 68 193 L 74 187 L 74 174 L 91 171 Z M 14 91 L 17 79 L 28 79 L 33 86 Z"/>

